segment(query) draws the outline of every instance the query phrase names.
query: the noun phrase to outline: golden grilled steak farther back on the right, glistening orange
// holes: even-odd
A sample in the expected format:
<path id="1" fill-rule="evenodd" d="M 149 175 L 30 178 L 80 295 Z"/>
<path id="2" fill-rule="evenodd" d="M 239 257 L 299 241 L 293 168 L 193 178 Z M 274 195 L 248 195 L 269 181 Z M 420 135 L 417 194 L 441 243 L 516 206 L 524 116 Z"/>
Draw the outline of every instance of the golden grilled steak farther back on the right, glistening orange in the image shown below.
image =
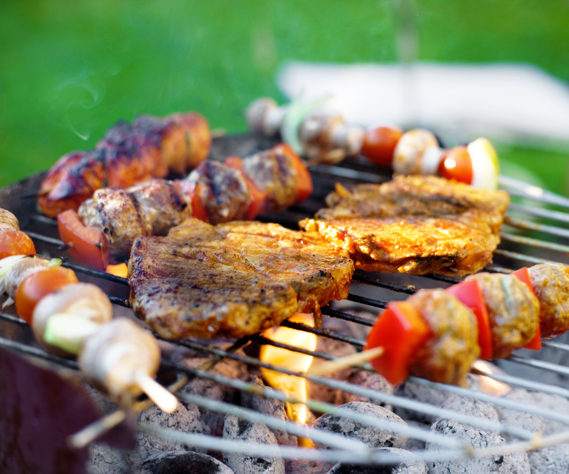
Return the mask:
<path id="1" fill-rule="evenodd" d="M 436 176 L 395 176 L 351 190 L 337 185 L 326 202 L 300 227 L 348 250 L 356 268 L 460 275 L 492 261 L 509 195 Z"/>

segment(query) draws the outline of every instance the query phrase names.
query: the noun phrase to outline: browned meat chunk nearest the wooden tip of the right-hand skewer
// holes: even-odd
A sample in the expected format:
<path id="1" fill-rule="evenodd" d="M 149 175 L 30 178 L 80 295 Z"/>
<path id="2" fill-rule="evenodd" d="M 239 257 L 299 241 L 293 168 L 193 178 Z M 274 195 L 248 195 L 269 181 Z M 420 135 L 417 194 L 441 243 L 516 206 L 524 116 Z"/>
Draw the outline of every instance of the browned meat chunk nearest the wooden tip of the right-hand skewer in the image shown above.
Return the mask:
<path id="1" fill-rule="evenodd" d="M 478 323 L 473 312 L 441 289 L 421 290 L 407 302 L 419 311 L 433 333 L 411 361 L 411 374 L 434 382 L 464 385 L 472 362 L 480 354 Z"/>

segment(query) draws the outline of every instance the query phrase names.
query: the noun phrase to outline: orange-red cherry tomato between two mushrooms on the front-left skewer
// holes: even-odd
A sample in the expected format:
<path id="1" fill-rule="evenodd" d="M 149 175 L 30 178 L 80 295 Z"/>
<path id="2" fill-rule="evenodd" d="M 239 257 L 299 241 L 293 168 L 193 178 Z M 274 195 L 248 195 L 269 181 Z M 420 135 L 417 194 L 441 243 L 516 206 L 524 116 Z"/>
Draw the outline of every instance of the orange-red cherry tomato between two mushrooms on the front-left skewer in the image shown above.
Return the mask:
<path id="1" fill-rule="evenodd" d="M 16 291 L 15 303 L 18 316 L 31 324 L 34 308 L 44 296 L 77 282 L 79 280 L 75 272 L 64 267 L 51 267 L 28 275 Z"/>

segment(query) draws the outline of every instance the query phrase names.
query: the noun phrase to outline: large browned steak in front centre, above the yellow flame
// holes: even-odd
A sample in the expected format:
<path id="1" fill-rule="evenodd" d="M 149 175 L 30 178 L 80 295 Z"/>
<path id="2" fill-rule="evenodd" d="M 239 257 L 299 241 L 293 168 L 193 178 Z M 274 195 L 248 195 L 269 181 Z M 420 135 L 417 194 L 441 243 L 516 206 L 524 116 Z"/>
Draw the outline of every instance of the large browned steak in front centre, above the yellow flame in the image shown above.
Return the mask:
<path id="1" fill-rule="evenodd" d="M 241 337 L 346 298 L 353 270 L 317 233 L 188 219 L 167 237 L 137 238 L 130 304 L 168 339 Z"/>

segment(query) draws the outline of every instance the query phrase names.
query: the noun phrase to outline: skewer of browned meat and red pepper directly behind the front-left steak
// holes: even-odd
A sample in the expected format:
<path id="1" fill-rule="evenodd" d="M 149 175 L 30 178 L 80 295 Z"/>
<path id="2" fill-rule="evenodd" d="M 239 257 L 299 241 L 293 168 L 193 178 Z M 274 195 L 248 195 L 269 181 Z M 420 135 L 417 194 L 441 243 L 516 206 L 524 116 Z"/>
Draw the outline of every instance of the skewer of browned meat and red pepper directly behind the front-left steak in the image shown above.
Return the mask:
<path id="1" fill-rule="evenodd" d="M 57 217 L 61 240 L 80 262 L 105 270 L 126 261 L 137 236 L 164 236 L 190 216 L 219 224 L 280 212 L 312 192 L 310 173 L 287 145 L 225 164 L 206 160 L 183 180 L 102 188 L 79 211 Z"/>

